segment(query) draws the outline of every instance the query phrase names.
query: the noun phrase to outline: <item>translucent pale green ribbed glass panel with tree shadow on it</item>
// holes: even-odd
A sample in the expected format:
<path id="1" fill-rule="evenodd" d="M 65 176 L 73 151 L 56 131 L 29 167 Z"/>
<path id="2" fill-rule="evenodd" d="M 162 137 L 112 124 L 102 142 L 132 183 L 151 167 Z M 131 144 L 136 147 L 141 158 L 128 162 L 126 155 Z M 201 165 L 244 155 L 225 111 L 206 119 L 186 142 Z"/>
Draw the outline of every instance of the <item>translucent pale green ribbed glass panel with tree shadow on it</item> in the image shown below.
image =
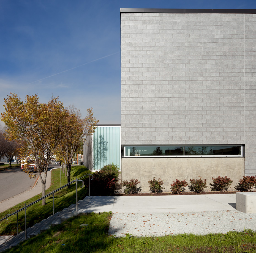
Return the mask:
<path id="1" fill-rule="evenodd" d="M 121 164 L 120 127 L 97 127 L 93 134 L 93 169 Z"/>

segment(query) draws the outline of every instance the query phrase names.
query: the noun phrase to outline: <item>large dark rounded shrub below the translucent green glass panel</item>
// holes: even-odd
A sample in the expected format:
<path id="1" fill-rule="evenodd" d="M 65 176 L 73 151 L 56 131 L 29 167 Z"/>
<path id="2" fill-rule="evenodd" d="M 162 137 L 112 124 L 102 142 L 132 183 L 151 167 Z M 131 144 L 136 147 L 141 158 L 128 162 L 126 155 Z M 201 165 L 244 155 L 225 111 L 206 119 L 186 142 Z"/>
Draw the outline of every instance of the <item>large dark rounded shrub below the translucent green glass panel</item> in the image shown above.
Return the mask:
<path id="1" fill-rule="evenodd" d="M 94 172 L 94 179 L 90 180 L 90 193 L 93 196 L 112 195 L 115 191 L 115 184 L 118 181 L 119 168 L 114 164 L 108 164 L 99 171 Z M 88 180 L 85 180 L 88 187 Z"/>

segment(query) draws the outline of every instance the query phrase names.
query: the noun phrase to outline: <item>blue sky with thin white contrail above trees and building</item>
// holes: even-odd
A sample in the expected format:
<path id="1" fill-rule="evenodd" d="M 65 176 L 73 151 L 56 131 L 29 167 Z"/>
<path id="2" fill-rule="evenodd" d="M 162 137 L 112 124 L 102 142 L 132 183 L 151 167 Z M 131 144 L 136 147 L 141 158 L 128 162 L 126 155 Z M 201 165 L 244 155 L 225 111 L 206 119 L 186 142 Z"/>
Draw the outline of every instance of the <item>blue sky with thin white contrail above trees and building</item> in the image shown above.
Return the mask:
<path id="1" fill-rule="evenodd" d="M 10 92 L 59 96 L 121 123 L 120 8 L 256 9 L 255 0 L 1 0 L 0 112 Z"/>

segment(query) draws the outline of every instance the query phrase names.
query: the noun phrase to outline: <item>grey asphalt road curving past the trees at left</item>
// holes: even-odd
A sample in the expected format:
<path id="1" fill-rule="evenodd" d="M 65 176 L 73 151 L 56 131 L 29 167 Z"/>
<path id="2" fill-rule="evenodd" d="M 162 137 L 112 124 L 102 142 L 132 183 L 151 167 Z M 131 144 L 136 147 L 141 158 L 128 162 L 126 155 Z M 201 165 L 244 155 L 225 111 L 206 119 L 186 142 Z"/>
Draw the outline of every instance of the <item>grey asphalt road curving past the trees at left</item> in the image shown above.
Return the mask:
<path id="1" fill-rule="evenodd" d="M 49 169 L 58 167 L 59 164 L 50 164 Z M 0 202 L 31 189 L 36 179 L 29 178 L 20 167 L 0 171 Z"/>

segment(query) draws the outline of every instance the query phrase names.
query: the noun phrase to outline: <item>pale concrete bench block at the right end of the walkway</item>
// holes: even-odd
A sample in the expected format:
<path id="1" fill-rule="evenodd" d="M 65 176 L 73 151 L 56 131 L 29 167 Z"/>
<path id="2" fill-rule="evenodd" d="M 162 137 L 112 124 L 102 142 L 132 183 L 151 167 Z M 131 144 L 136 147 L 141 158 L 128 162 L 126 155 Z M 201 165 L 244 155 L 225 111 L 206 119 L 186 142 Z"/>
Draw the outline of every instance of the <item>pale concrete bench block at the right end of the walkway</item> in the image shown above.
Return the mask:
<path id="1" fill-rule="evenodd" d="M 256 193 L 236 193 L 236 210 L 256 213 Z"/>

